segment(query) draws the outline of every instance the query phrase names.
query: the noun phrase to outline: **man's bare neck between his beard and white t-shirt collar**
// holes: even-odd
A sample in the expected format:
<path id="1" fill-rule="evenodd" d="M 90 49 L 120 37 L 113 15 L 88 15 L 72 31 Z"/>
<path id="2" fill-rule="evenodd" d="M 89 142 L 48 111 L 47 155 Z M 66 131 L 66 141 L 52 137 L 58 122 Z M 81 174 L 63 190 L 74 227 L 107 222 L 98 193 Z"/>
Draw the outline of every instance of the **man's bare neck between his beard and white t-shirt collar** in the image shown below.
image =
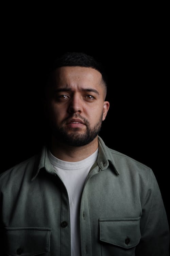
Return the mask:
<path id="1" fill-rule="evenodd" d="M 92 155 L 98 148 L 98 136 L 88 143 L 87 145 L 75 147 L 57 141 L 54 137 L 52 138 L 51 153 L 67 162 L 81 161 L 88 156 Z"/>

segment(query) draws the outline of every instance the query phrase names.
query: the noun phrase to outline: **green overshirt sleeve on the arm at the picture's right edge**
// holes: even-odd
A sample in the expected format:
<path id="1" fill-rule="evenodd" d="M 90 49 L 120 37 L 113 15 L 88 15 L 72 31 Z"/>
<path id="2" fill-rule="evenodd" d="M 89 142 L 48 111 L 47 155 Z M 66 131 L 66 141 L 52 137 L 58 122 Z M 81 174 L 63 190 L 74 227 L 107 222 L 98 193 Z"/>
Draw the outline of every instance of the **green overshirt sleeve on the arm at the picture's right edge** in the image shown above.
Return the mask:
<path id="1" fill-rule="evenodd" d="M 162 195 L 153 171 L 140 222 L 141 240 L 136 246 L 136 256 L 169 256 L 169 224 Z"/>

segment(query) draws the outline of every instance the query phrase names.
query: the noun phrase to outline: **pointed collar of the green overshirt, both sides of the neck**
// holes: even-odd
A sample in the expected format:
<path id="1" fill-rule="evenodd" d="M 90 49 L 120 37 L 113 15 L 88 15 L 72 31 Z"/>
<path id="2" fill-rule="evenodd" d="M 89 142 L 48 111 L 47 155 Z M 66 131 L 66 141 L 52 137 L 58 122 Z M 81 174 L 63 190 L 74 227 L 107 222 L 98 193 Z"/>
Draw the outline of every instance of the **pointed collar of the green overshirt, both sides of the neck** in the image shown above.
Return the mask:
<path id="1" fill-rule="evenodd" d="M 103 171 L 107 169 L 108 165 L 110 164 L 113 170 L 115 171 L 115 173 L 119 175 L 118 171 L 116 170 L 116 163 L 111 151 L 99 136 L 98 136 L 98 142 L 99 142 L 99 154 L 97 158 L 97 163 L 100 169 Z M 33 181 L 36 178 L 41 168 L 45 168 L 45 170 L 49 173 L 52 173 L 52 174 L 55 173 L 55 170 L 49 160 L 48 148 L 46 146 L 44 146 L 41 150 L 41 153 L 37 160 L 37 164 L 35 164 L 35 167 L 33 170 L 33 176 L 31 181 Z"/>

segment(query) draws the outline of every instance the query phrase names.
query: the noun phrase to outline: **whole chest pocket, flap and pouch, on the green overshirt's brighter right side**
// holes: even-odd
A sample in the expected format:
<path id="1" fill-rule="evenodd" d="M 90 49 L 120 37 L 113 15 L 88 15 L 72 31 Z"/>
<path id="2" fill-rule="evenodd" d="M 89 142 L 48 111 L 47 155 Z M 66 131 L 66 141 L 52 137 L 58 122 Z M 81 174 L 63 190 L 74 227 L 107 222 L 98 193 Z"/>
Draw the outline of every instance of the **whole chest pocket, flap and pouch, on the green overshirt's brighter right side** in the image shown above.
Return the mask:
<path id="1" fill-rule="evenodd" d="M 134 255 L 135 246 L 139 243 L 140 217 L 131 219 L 99 219 L 102 255 Z M 129 250 L 127 250 L 129 249 Z M 131 251 L 131 254 L 129 254 Z"/>

